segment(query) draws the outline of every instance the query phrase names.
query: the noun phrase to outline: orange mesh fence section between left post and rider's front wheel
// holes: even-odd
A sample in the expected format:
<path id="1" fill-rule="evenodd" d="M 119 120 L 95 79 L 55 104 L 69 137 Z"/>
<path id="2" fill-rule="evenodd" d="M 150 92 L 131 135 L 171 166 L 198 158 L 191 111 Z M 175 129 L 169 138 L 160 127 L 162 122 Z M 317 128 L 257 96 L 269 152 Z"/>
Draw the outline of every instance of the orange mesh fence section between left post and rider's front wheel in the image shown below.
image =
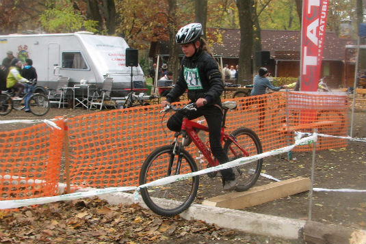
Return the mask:
<path id="1" fill-rule="evenodd" d="M 155 105 L 70 118 L 71 184 L 137 186 L 146 156 L 170 139 L 161 128 L 160 110 Z"/>

